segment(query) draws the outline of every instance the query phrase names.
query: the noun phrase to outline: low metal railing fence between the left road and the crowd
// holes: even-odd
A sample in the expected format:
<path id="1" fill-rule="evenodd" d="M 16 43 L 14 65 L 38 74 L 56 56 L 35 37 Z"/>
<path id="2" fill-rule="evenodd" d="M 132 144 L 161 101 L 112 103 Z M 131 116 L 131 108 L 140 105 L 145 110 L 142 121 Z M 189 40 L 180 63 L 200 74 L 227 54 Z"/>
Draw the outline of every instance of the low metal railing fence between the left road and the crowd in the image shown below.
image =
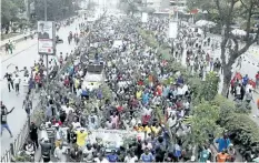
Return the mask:
<path id="1" fill-rule="evenodd" d="M 103 19 L 104 14 L 106 14 L 106 12 L 94 23 L 98 23 L 101 19 Z M 86 38 L 89 35 L 89 33 L 86 35 Z M 74 57 L 73 54 L 71 54 L 69 57 L 68 62 L 66 62 L 66 64 L 60 69 L 60 71 L 56 75 L 56 79 L 60 79 L 61 74 L 67 71 L 67 68 L 71 64 L 71 62 L 73 60 L 73 57 Z M 51 88 L 53 88 L 56 85 L 54 81 L 56 81 L 54 79 L 53 79 L 53 82 L 50 81 L 51 82 L 49 85 L 50 90 L 51 90 Z M 43 121 L 42 111 L 43 111 L 42 103 L 40 101 L 38 103 L 38 105 L 34 108 L 34 110 L 32 111 L 31 118 L 26 121 L 26 123 L 24 123 L 23 128 L 21 129 L 20 133 L 18 134 L 18 136 L 14 139 L 13 143 L 10 144 L 10 149 L 4 152 L 3 156 L 1 156 L 1 162 L 11 162 L 12 157 L 17 156 L 18 152 L 22 150 L 22 147 L 23 147 L 23 145 L 27 142 L 28 136 L 29 136 L 30 121 L 34 122 L 36 124 L 41 124 Z"/>

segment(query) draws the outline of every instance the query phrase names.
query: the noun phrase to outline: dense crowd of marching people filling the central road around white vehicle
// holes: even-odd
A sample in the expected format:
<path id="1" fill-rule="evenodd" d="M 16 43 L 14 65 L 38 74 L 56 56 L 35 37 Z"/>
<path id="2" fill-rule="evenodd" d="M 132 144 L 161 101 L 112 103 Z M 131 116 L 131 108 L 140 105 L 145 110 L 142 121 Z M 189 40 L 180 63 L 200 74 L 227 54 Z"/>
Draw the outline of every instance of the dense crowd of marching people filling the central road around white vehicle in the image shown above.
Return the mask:
<path id="1" fill-rule="evenodd" d="M 168 23 L 168 18 L 152 17 L 141 23 L 112 14 L 91 27 L 90 39 L 81 39 L 83 47 L 72 53 L 71 64 L 46 95 L 46 121 L 40 126 L 32 122 L 24 151 L 31 154 L 41 146 L 43 162 L 209 162 L 215 157 L 217 162 L 235 162 L 236 151 L 226 133 L 216 141 L 217 150 L 211 149 L 213 137 L 199 146 L 187 143 L 191 88 L 139 32 L 155 31 L 159 44 L 170 45 Z M 81 29 L 89 31 L 86 26 Z M 218 42 L 202 40 L 192 29 L 180 30 L 180 43 L 171 44 L 171 59 L 187 52 L 189 70 L 202 79 L 207 71 L 219 72 L 219 59 L 205 50 L 217 49 Z M 62 55 L 59 61 L 66 62 Z M 101 70 L 86 79 L 90 64 Z M 100 75 L 104 79 L 96 81 Z M 29 96 L 23 106 L 32 108 Z M 114 135 L 98 136 L 101 132 Z"/>

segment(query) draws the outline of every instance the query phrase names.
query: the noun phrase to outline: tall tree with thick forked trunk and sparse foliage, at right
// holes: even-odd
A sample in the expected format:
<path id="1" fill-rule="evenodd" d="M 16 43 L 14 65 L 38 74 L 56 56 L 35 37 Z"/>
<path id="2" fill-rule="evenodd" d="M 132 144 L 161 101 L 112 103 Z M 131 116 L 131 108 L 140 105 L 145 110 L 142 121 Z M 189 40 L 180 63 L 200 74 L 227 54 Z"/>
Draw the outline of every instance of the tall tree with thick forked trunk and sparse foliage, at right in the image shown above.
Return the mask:
<path id="1" fill-rule="evenodd" d="M 251 44 L 257 42 L 259 38 L 259 29 L 256 31 L 256 37 L 251 38 L 252 17 L 259 13 L 259 0 L 190 0 L 188 1 L 190 9 L 206 10 L 208 14 L 216 14 L 218 24 L 222 30 L 222 41 L 220 44 L 222 72 L 223 72 L 223 91 L 227 91 L 231 80 L 231 67 L 242 53 L 245 53 Z M 231 24 L 237 21 L 237 18 L 243 20 L 242 24 L 247 32 L 243 44 L 240 43 L 238 37 L 231 30 Z M 229 45 L 229 42 L 232 45 Z"/>

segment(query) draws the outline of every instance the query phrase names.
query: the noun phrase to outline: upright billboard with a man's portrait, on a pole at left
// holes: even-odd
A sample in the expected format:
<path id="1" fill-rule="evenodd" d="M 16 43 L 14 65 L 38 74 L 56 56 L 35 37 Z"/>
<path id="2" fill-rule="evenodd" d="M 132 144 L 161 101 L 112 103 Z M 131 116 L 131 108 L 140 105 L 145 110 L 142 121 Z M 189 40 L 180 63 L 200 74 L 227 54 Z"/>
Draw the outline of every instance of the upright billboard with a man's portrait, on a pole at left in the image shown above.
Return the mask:
<path id="1" fill-rule="evenodd" d="M 56 26 L 53 21 L 38 21 L 38 52 L 54 54 Z"/>

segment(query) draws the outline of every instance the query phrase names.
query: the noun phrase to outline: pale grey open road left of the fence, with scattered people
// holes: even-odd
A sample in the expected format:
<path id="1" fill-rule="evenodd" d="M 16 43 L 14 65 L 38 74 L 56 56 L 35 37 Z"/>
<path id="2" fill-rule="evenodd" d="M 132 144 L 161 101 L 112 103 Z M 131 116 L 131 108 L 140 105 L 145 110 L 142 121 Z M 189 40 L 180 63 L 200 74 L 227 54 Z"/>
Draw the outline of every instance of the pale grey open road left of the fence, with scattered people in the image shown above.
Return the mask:
<path id="1" fill-rule="evenodd" d="M 77 23 L 77 24 L 76 24 Z M 70 52 L 71 50 L 74 49 L 74 43 L 71 43 L 69 45 L 68 43 L 68 34 L 70 31 L 74 32 L 76 28 L 78 29 L 78 22 L 71 24 L 70 27 L 66 27 L 60 29 L 57 34 L 63 39 L 63 43 L 57 45 L 57 54 L 59 57 L 60 52 L 63 53 L 63 55 L 67 52 Z M 3 134 L 1 136 L 1 155 L 6 150 L 10 147 L 10 143 L 13 142 L 13 140 L 17 137 L 17 135 L 20 133 L 22 130 L 22 126 L 26 123 L 26 112 L 22 110 L 22 101 L 24 100 L 24 93 L 23 93 L 23 88 L 21 85 L 20 90 L 20 95 L 17 95 L 14 93 L 14 90 L 11 92 L 8 91 L 7 88 L 7 80 L 2 80 L 3 75 L 6 72 L 11 71 L 10 69 L 7 69 L 9 64 L 14 64 L 19 69 L 23 69 L 23 67 L 30 68 L 33 65 L 34 61 L 39 60 L 38 55 L 38 44 L 37 44 L 37 39 L 34 40 L 28 40 L 28 41 L 22 41 L 20 43 L 17 43 L 16 50 L 13 54 L 1 54 L 1 100 L 3 104 L 10 110 L 12 106 L 16 109 L 11 114 L 8 115 L 8 124 L 11 129 L 11 132 L 13 134 L 13 137 L 10 137 L 8 131 L 3 131 Z M 53 57 L 51 57 L 53 58 Z M 49 59 L 50 60 L 50 59 Z M 22 74 L 21 74 L 22 75 Z M 33 106 L 37 105 L 37 101 L 33 101 Z"/>

